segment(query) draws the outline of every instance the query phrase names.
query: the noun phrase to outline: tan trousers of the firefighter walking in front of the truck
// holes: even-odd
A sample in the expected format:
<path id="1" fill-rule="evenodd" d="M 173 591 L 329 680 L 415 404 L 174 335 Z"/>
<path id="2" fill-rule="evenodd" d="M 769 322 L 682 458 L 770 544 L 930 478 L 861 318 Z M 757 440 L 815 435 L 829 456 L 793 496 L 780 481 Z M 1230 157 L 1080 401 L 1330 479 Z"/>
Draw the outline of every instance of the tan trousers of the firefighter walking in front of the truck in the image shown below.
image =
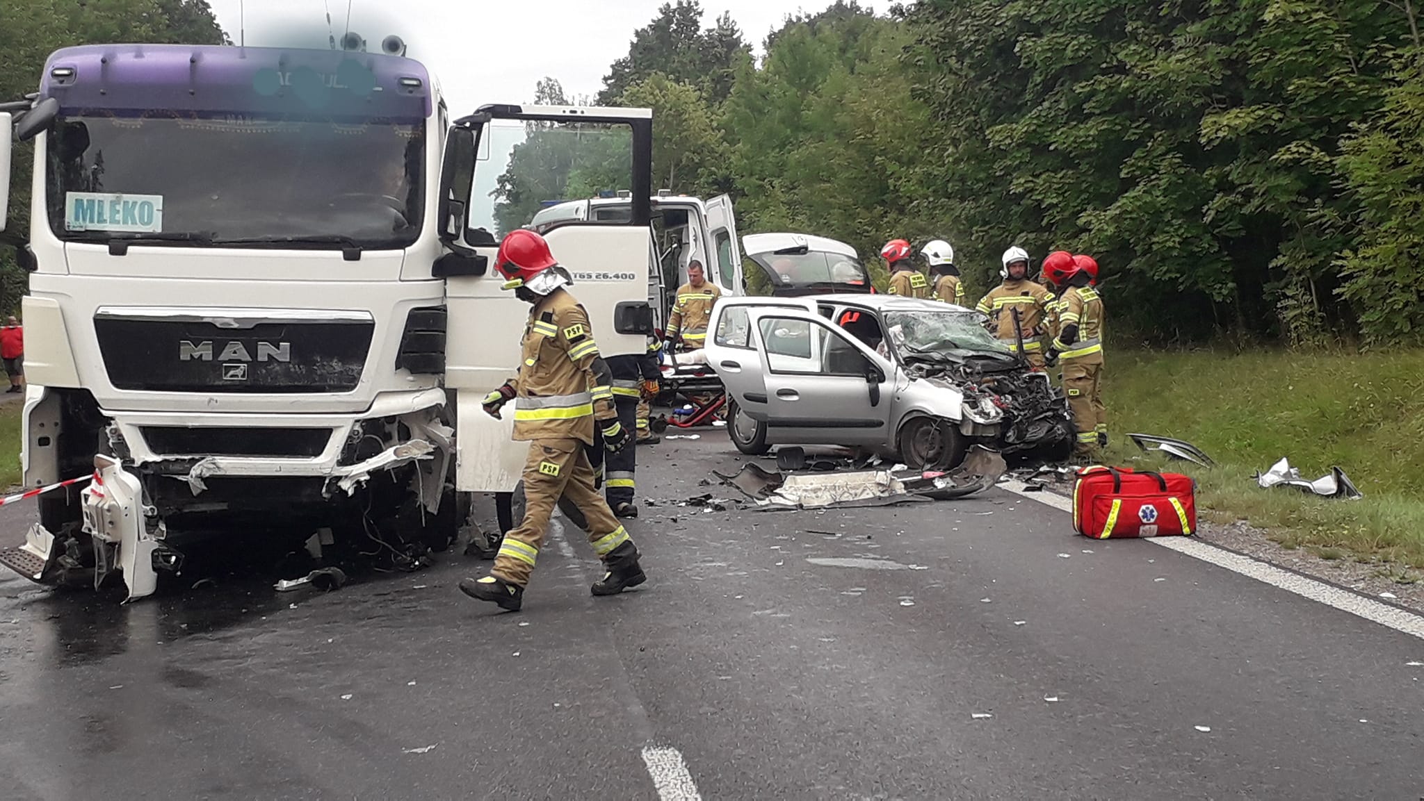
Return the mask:
<path id="1" fill-rule="evenodd" d="M 490 571 L 493 576 L 511 585 L 528 583 L 560 495 L 567 495 L 584 512 L 588 542 L 600 559 L 629 542 L 622 524 L 594 489 L 594 468 L 588 464 L 584 444 L 578 440 L 535 440 L 530 442 L 524 461 L 524 521 L 504 535 Z"/>

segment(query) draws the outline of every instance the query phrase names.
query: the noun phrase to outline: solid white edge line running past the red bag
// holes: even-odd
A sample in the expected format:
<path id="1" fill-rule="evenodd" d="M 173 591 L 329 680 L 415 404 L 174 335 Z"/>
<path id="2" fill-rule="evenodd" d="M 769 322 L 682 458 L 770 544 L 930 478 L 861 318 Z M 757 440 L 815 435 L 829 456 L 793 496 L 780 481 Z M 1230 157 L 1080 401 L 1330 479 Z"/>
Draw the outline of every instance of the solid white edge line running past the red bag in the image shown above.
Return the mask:
<path id="1" fill-rule="evenodd" d="M 1058 495 L 1057 492 L 1049 492 L 1047 489 L 1041 489 L 1038 492 L 1024 492 L 1024 485 L 1018 481 L 1007 481 L 1000 484 L 1000 487 L 1015 495 L 1022 495 L 1024 498 L 1031 498 L 1047 506 L 1072 514 L 1072 499 Z M 1240 553 L 1216 548 L 1215 545 L 1209 545 L 1196 538 L 1161 536 L 1148 538 L 1148 542 L 1176 551 L 1178 553 L 1185 553 L 1193 559 L 1210 562 L 1218 568 L 1226 568 L 1227 571 L 1256 579 L 1273 588 L 1293 592 L 1302 598 L 1317 600 L 1326 606 L 1349 612 L 1357 617 L 1364 617 L 1366 620 L 1388 626 L 1396 632 L 1424 640 L 1424 617 L 1414 615 L 1413 612 L 1405 612 L 1397 606 L 1380 603 L 1378 600 L 1353 593 L 1347 589 L 1307 579 L 1306 576 L 1283 571 L 1274 565 L 1252 559 L 1250 556 L 1242 556 Z"/>

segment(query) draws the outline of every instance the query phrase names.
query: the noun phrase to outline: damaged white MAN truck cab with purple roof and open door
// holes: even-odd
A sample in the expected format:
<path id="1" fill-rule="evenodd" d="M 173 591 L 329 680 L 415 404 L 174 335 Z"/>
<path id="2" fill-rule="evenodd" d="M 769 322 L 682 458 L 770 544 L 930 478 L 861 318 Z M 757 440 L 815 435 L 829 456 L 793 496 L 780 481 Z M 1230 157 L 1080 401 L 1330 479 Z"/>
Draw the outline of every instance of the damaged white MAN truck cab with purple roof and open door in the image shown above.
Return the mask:
<path id="1" fill-rule="evenodd" d="M 71 47 L 4 110 L 36 155 L 24 484 L 98 479 L 41 495 L 0 563 L 118 572 L 130 598 L 209 536 L 328 529 L 407 569 L 446 548 L 466 494 L 514 489 L 523 460 L 476 400 L 517 367 L 528 307 L 491 263 L 531 216 L 520 191 L 649 192 L 649 111 L 486 107 L 450 127 L 434 77 L 392 54 Z M 601 149 L 521 158 L 578 139 Z M 595 276 L 574 292 L 608 354 L 651 329 L 638 206 L 548 233 Z"/>

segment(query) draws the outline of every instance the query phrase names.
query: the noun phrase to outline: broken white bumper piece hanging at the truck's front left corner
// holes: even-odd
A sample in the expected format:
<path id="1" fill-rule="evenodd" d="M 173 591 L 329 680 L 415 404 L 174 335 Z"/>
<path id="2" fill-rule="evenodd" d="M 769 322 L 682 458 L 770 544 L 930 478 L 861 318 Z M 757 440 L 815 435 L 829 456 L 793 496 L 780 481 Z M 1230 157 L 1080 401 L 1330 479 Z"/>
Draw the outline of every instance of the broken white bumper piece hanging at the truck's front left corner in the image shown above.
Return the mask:
<path id="1" fill-rule="evenodd" d="M 100 542 L 117 545 L 114 563 L 128 588 L 124 602 L 147 598 L 158 589 L 154 572 L 158 543 L 144 525 L 142 487 L 138 477 L 125 472 L 112 457 L 95 455 L 94 468 L 94 481 L 80 492 L 84 531 L 95 539 L 95 549 L 101 548 Z"/>

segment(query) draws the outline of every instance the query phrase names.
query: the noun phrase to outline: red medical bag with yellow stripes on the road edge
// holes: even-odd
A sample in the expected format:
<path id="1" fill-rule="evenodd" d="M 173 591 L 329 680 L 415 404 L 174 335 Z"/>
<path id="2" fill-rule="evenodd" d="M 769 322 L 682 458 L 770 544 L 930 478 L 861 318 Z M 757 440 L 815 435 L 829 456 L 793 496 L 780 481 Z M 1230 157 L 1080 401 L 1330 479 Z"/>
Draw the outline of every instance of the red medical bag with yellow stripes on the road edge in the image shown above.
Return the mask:
<path id="1" fill-rule="evenodd" d="M 1190 535 L 1196 531 L 1196 482 L 1179 472 L 1079 470 L 1072 526 L 1094 539 Z"/>

